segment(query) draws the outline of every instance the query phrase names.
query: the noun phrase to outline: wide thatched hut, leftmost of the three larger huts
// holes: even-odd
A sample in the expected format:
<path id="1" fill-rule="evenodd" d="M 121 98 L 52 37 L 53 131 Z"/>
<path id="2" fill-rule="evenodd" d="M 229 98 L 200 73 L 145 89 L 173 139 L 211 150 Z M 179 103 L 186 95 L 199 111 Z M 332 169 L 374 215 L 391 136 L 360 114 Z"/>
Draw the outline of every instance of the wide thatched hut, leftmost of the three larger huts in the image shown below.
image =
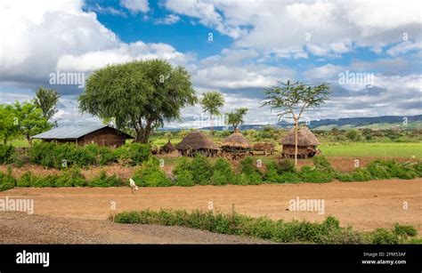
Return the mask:
<path id="1" fill-rule="evenodd" d="M 216 146 L 213 141 L 199 131 L 190 132 L 175 148 L 182 156 L 188 157 L 193 157 L 196 154 L 215 157 L 219 150 L 218 146 Z"/>

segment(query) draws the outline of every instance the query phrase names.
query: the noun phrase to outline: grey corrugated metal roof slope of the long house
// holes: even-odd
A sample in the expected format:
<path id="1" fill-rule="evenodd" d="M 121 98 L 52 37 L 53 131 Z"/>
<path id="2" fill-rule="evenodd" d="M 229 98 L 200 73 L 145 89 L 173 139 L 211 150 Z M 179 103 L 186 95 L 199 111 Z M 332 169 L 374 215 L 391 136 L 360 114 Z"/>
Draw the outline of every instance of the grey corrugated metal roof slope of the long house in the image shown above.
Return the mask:
<path id="1" fill-rule="evenodd" d="M 95 132 L 104 127 L 108 127 L 103 124 L 84 124 L 75 126 L 62 126 L 53 128 L 47 132 L 41 132 L 33 136 L 33 139 L 53 139 L 53 140 L 74 140 L 78 139 L 85 134 Z"/>

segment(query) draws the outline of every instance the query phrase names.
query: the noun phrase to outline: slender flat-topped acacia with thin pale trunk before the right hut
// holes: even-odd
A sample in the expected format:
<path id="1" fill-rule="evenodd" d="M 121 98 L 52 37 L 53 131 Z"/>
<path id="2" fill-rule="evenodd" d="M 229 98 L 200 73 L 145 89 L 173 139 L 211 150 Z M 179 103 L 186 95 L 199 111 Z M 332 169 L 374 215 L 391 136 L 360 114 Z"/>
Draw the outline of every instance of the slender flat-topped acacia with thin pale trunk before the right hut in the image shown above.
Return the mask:
<path id="1" fill-rule="evenodd" d="M 308 108 L 318 108 L 328 99 L 329 84 L 304 84 L 301 82 L 281 83 L 281 86 L 272 86 L 265 89 L 267 95 L 263 106 L 278 109 L 279 120 L 283 116 L 292 118 L 295 128 L 295 165 L 297 165 L 297 131 L 299 120 Z"/>

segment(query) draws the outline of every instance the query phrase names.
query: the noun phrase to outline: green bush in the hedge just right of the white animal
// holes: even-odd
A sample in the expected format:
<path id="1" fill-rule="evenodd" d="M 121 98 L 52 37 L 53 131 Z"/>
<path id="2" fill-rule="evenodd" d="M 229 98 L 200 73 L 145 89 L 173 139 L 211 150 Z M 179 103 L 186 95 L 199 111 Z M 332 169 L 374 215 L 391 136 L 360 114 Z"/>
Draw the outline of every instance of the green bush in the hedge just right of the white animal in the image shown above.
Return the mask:
<path id="1" fill-rule="evenodd" d="M 141 187 L 168 187 L 173 182 L 166 176 L 160 167 L 158 159 L 151 157 L 134 173 L 136 185 Z"/>

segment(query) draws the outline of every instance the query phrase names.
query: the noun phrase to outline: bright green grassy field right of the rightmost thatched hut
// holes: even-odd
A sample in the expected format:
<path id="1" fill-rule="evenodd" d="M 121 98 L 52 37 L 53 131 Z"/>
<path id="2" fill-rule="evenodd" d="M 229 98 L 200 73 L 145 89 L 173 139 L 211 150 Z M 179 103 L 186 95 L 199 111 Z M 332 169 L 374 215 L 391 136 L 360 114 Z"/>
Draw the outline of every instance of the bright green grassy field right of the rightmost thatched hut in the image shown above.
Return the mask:
<path id="1" fill-rule="evenodd" d="M 422 158 L 422 143 L 345 143 L 322 144 L 324 156 L 336 157 L 417 157 Z"/>

